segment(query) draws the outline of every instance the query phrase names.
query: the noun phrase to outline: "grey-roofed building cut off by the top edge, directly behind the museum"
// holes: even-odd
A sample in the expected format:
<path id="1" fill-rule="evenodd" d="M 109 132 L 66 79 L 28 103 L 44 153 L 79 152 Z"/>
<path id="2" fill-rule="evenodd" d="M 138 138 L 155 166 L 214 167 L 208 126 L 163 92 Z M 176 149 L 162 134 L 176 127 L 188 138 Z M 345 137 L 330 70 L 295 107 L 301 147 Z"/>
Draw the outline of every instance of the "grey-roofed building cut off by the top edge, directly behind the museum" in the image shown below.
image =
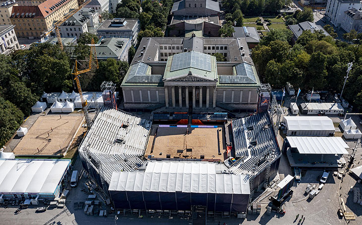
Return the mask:
<path id="1" fill-rule="evenodd" d="M 175 0 L 171 13 L 181 16 L 220 15 L 218 0 Z"/>

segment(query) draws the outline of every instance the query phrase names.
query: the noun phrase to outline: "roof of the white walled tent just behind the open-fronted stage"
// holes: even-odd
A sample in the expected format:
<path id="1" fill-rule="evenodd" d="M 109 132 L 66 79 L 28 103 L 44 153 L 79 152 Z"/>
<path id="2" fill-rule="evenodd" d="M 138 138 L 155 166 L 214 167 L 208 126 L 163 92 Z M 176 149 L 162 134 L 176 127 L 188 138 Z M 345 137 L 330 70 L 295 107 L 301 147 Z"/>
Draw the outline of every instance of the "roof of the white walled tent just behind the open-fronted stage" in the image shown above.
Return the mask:
<path id="1" fill-rule="evenodd" d="M 327 116 L 286 116 L 290 131 L 334 131 L 333 121 Z"/>

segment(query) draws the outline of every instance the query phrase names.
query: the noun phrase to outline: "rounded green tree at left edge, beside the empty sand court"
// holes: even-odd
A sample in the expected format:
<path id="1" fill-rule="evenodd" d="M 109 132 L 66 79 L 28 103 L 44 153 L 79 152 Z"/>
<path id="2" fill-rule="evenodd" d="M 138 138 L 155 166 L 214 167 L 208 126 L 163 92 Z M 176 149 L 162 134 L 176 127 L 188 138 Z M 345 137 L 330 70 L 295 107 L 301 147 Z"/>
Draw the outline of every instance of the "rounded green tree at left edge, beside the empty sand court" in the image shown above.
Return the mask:
<path id="1" fill-rule="evenodd" d="M 14 104 L 0 97 L 0 146 L 16 132 L 23 119 L 24 114 Z"/>

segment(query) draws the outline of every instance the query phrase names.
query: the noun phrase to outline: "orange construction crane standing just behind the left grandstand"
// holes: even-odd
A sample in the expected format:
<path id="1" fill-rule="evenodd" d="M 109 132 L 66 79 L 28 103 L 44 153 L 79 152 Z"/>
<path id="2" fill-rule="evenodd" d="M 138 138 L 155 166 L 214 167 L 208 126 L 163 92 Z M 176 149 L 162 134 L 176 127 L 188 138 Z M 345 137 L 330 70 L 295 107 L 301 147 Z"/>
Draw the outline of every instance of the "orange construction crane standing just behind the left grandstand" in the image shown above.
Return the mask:
<path id="1" fill-rule="evenodd" d="M 75 71 L 74 71 L 74 73 L 72 73 L 72 74 L 74 75 L 75 83 L 77 84 L 77 89 L 78 89 L 78 92 L 79 92 L 79 97 L 80 97 L 80 100 L 81 100 L 81 102 L 82 102 L 82 111 L 83 111 L 83 114 L 84 114 L 84 117 L 85 117 L 85 122 L 87 123 L 88 129 L 91 127 L 92 121 L 91 121 L 91 119 L 89 118 L 89 115 L 88 115 L 88 107 L 89 107 L 89 105 L 88 105 L 87 100 L 84 100 L 83 92 L 82 92 L 82 87 L 80 86 L 79 78 L 80 78 L 80 74 L 91 71 L 91 69 L 92 69 L 92 59 L 93 59 L 93 55 L 94 55 L 94 61 L 96 62 L 97 69 L 99 68 L 98 59 L 97 59 L 96 47 L 95 47 L 95 44 L 94 44 L 94 39 L 92 39 L 92 42 L 91 42 L 91 46 L 90 46 L 90 47 L 91 47 L 91 49 L 90 49 L 90 55 L 89 55 L 89 65 L 88 65 L 88 68 L 87 68 L 87 69 L 84 69 L 84 70 L 79 70 L 79 71 L 78 71 L 78 61 L 75 60 L 75 64 L 74 64 L 74 70 L 75 70 Z"/>

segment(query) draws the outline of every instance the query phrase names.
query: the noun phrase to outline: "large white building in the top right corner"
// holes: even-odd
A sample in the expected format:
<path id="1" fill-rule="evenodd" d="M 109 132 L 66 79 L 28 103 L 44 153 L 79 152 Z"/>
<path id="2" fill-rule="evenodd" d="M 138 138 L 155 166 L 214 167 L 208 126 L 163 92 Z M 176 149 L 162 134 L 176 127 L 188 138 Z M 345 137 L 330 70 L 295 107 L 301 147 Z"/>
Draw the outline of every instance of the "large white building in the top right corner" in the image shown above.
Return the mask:
<path id="1" fill-rule="evenodd" d="M 346 10 L 361 7 L 361 0 L 328 0 L 325 15 L 334 26 L 340 27 Z"/>

